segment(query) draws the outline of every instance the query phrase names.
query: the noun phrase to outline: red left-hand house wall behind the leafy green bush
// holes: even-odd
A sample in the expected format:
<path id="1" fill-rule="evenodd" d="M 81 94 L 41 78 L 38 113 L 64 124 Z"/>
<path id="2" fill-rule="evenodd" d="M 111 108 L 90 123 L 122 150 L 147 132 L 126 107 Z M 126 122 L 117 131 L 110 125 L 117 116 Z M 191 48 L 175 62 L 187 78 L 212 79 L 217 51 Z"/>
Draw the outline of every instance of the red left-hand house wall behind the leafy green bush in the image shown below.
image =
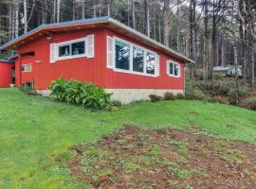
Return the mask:
<path id="1" fill-rule="evenodd" d="M 49 45 L 50 43 L 62 43 L 65 41 L 84 38 L 87 35 L 94 34 L 95 38 L 95 57 L 77 58 L 70 60 L 57 60 L 55 63 L 49 63 Z M 106 40 L 101 29 L 81 30 L 76 32 L 64 32 L 55 34 L 53 40 L 48 42 L 46 37 L 42 37 L 37 41 L 27 44 L 19 49 L 19 53 L 27 53 L 33 51 L 34 57 L 26 56 L 16 60 L 17 68 L 21 64 L 31 63 L 32 72 L 24 73 L 16 69 L 16 84 L 34 81 L 35 89 L 47 89 L 52 80 L 59 77 L 75 78 L 84 82 L 94 82 L 104 87 L 105 76 L 105 52 Z M 40 60 L 40 63 L 36 61 Z"/>

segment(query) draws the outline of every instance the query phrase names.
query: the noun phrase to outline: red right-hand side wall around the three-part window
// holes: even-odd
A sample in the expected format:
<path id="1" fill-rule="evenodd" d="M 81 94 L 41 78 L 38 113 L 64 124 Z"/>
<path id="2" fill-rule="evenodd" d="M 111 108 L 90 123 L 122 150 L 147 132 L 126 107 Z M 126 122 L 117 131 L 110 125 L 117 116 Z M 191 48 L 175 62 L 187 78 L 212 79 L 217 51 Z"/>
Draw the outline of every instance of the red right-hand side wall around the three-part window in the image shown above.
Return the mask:
<path id="1" fill-rule="evenodd" d="M 108 89 L 168 89 L 184 90 L 184 61 L 177 60 L 172 56 L 155 50 L 152 46 L 147 46 L 138 41 L 129 39 L 114 31 L 106 31 L 107 36 L 118 37 L 129 43 L 135 43 L 148 50 L 154 51 L 159 56 L 159 77 L 139 76 L 134 74 L 115 72 L 108 69 L 106 72 L 106 88 Z M 170 77 L 167 75 L 167 60 L 175 60 L 180 64 L 180 77 Z"/>

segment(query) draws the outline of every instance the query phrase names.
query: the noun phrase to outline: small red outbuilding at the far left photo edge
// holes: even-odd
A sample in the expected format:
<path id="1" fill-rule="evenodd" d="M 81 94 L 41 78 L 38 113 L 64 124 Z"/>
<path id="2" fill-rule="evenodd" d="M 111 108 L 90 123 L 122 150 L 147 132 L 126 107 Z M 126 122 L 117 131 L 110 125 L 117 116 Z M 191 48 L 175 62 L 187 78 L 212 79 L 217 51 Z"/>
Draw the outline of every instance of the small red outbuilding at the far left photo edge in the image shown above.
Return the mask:
<path id="1" fill-rule="evenodd" d="M 0 88 L 7 88 L 12 83 L 14 61 L 0 59 Z"/>

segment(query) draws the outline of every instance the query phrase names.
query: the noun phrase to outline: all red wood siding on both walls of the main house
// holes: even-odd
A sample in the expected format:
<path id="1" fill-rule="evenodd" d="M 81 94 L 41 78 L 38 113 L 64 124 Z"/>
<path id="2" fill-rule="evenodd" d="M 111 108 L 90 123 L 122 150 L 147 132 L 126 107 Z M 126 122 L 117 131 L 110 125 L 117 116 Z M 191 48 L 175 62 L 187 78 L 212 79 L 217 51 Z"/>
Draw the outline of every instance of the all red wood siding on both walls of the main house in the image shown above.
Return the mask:
<path id="1" fill-rule="evenodd" d="M 92 59 L 78 58 L 70 60 L 57 60 L 55 63 L 49 63 L 49 44 L 61 43 L 65 41 L 83 38 L 94 34 L 95 39 L 95 57 Z M 117 36 L 131 43 L 136 43 L 159 55 L 160 76 L 147 77 L 133 74 L 124 74 L 114 72 L 106 66 L 106 38 L 107 36 Z M 19 49 L 19 53 L 35 52 L 34 57 L 20 57 L 16 60 L 16 85 L 29 80 L 34 81 L 35 89 L 47 89 L 52 80 L 58 77 L 75 78 L 84 82 L 94 82 L 103 88 L 108 89 L 173 89 L 183 90 L 184 88 L 184 62 L 176 60 L 162 52 L 155 50 L 151 46 L 141 45 L 139 42 L 127 37 L 120 36 L 114 31 L 106 29 L 91 29 L 81 31 L 69 31 L 54 34 L 51 42 L 42 37 L 33 43 L 27 44 Z M 35 61 L 41 60 L 40 63 Z M 167 60 L 175 60 L 180 63 L 181 77 L 169 77 L 167 75 Z M 20 65 L 23 63 L 32 64 L 31 73 L 20 73 Z"/>

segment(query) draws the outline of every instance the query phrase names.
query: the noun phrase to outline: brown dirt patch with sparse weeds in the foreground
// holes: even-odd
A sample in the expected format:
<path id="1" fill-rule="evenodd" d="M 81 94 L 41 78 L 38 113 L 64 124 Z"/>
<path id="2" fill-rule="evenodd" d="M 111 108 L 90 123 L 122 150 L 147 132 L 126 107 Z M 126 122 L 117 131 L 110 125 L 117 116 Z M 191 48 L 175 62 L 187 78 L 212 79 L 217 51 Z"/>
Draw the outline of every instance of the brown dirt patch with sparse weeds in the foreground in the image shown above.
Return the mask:
<path id="1" fill-rule="evenodd" d="M 256 188 L 256 146 L 126 126 L 79 145 L 68 167 L 92 188 Z"/>

